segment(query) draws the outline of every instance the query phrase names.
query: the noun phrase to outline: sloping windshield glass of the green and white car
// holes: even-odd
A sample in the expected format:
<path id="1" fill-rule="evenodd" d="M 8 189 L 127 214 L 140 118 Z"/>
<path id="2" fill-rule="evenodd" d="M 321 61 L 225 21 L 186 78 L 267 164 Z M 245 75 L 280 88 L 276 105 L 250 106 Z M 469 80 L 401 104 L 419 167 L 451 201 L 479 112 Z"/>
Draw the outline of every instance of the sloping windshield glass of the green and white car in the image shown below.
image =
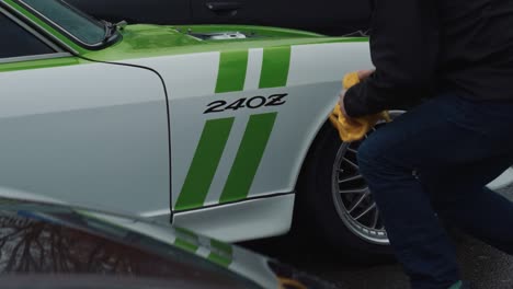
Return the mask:
<path id="1" fill-rule="evenodd" d="M 52 24 L 64 30 L 76 41 L 87 46 L 104 43 L 107 28 L 103 23 L 88 16 L 62 0 L 22 0 Z"/>

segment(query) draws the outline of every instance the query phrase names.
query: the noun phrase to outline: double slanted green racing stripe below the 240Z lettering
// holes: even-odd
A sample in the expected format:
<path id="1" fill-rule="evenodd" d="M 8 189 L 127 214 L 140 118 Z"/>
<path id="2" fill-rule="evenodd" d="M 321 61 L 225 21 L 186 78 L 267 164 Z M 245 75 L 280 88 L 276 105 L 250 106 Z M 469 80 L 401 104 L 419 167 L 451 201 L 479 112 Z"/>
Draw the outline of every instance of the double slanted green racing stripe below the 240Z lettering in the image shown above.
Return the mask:
<path id="1" fill-rule="evenodd" d="M 225 183 L 219 203 L 248 197 L 254 176 L 274 128 L 277 113 L 252 115 Z M 187 176 L 180 192 L 175 210 L 204 206 L 212 182 L 223 157 L 235 118 L 207 120 L 194 153 Z"/>

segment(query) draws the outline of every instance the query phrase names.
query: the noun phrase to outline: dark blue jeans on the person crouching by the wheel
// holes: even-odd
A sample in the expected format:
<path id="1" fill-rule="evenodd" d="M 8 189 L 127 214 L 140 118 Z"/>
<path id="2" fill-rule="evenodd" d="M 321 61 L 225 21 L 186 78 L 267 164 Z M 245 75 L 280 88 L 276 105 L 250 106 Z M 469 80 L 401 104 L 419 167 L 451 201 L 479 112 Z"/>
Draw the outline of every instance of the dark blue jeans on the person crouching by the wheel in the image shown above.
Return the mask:
<path id="1" fill-rule="evenodd" d="M 371 135 L 358 164 L 412 288 L 460 280 L 442 220 L 513 254 L 513 204 L 485 187 L 513 164 L 513 101 L 435 97 Z"/>

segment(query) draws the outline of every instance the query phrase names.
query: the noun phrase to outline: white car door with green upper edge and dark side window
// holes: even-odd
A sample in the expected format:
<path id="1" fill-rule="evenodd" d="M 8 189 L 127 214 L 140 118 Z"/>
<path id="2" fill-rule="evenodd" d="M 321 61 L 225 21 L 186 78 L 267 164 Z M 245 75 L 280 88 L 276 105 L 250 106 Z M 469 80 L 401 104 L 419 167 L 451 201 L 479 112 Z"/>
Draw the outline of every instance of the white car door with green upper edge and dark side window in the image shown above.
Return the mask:
<path id="1" fill-rule="evenodd" d="M 158 74 L 71 56 L 1 11 L 0 26 L 0 187 L 169 219 Z"/>

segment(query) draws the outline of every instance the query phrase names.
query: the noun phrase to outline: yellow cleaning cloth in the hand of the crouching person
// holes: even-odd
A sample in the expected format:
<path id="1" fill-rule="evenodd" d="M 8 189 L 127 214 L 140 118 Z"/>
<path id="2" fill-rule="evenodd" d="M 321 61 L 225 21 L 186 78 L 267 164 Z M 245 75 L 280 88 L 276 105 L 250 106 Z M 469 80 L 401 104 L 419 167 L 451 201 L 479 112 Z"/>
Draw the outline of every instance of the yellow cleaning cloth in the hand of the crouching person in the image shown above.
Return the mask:
<path id="1" fill-rule="evenodd" d="M 345 90 L 360 82 L 357 72 L 347 73 L 342 81 Z M 347 118 L 342 114 L 340 104 L 337 103 L 333 113 L 330 115 L 331 124 L 339 130 L 340 138 L 344 142 L 361 140 L 379 120 L 391 122 L 388 112 L 363 117 Z"/>

